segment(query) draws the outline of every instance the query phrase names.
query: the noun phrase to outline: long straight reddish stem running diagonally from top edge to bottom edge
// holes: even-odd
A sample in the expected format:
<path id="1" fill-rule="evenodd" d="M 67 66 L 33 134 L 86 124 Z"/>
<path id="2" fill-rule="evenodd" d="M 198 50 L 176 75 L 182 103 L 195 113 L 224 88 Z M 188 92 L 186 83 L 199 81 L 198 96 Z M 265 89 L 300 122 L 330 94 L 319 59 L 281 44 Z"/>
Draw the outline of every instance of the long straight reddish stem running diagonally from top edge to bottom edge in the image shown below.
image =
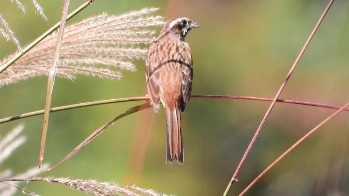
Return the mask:
<path id="1" fill-rule="evenodd" d="M 272 108 L 274 107 L 274 105 L 275 105 L 277 99 L 280 97 L 281 92 L 282 92 L 283 89 L 285 88 L 288 79 L 291 77 L 291 75 L 292 75 L 294 69 L 296 68 L 297 64 L 300 62 L 300 60 L 301 60 L 301 58 L 302 58 L 302 56 L 303 56 L 303 54 L 304 54 L 306 48 L 308 47 L 308 45 L 309 45 L 311 39 L 313 38 L 313 36 L 314 36 L 316 30 L 317 30 L 318 27 L 320 26 L 320 24 L 321 24 L 323 18 L 325 18 L 326 14 L 327 14 L 327 12 L 329 11 L 330 7 L 332 6 L 332 3 L 333 3 L 333 2 L 334 2 L 334 0 L 331 0 L 330 3 L 328 4 L 328 6 L 326 7 L 325 11 L 323 11 L 322 15 L 320 16 L 319 20 L 317 21 L 317 23 L 316 23 L 316 25 L 315 25 L 315 27 L 314 27 L 314 29 L 313 29 L 313 31 L 311 32 L 311 34 L 309 35 L 309 37 L 308 37 L 306 43 L 304 44 L 304 46 L 303 46 L 301 52 L 298 54 L 298 57 L 296 58 L 296 60 L 294 61 L 293 65 L 292 65 L 292 67 L 291 67 L 291 69 L 290 69 L 289 72 L 287 73 L 286 78 L 284 79 L 284 81 L 283 81 L 283 83 L 282 83 L 282 85 L 281 85 L 281 87 L 280 87 L 278 93 L 276 94 L 276 96 L 275 96 L 274 99 L 272 100 L 272 102 L 271 102 L 271 104 L 270 104 L 268 110 L 266 111 L 266 113 L 265 113 L 265 115 L 264 115 L 264 117 L 263 117 L 263 119 L 262 119 L 262 122 L 260 123 L 258 129 L 257 129 L 256 132 L 255 132 L 255 135 L 254 135 L 253 138 L 251 139 L 250 144 L 248 144 L 248 147 L 247 147 L 245 153 L 243 154 L 243 156 L 242 156 L 242 158 L 241 158 L 241 160 L 240 160 L 240 162 L 239 162 L 239 164 L 238 164 L 238 166 L 237 166 L 237 168 L 236 168 L 236 170 L 235 170 L 235 172 L 234 172 L 234 174 L 233 174 L 233 176 L 232 176 L 232 179 L 230 180 L 230 182 L 229 182 L 229 184 L 228 184 L 228 186 L 227 186 L 227 188 L 226 188 L 226 190 L 225 190 L 225 192 L 223 193 L 223 196 L 227 196 L 227 195 L 228 195 L 228 192 L 229 192 L 229 190 L 230 190 L 232 184 L 234 183 L 234 181 L 236 181 L 236 177 L 237 177 L 237 175 L 238 175 L 238 173 L 239 173 L 239 171 L 240 171 L 240 169 L 241 169 L 241 166 L 242 166 L 242 164 L 244 163 L 244 161 L 245 161 L 245 159 L 246 159 L 248 153 L 250 152 L 250 150 L 251 150 L 253 144 L 255 143 L 255 141 L 256 141 L 256 139 L 257 139 L 257 136 L 258 136 L 260 130 L 262 129 L 262 127 L 263 127 L 263 125 L 264 125 L 266 119 L 268 118 L 268 116 L 269 116 L 269 114 L 270 114 Z"/>

